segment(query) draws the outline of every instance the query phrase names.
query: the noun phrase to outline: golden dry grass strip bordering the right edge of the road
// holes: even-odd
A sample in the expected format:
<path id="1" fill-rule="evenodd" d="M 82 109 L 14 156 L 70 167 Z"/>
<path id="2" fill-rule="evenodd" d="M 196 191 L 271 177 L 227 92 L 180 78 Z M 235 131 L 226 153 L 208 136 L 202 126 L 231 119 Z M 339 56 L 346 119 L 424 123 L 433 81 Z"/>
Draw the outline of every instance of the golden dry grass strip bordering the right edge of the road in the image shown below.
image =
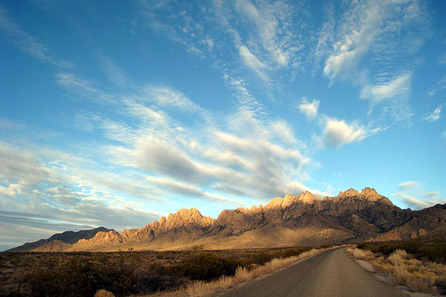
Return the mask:
<path id="1" fill-rule="evenodd" d="M 406 250 L 395 250 L 389 257 L 377 257 L 370 251 L 348 248 L 356 259 L 371 262 L 377 272 L 387 274 L 396 284 L 408 286 L 414 292 L 446 292 L 446 265 L 414 259 Z M 371 255 L 370 255 L 370 254 Z"/>

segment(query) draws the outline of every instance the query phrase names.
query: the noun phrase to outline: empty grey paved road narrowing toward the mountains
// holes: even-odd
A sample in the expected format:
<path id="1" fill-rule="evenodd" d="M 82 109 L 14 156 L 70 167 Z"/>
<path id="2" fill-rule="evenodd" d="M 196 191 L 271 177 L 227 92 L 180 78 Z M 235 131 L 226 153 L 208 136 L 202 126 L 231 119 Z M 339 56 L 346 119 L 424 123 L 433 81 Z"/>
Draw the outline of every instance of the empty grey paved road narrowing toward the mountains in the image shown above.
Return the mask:
<path id="1" fill-rule="evenodd" d="M 229 290 L 223 296 L 407 297 L 399 289 L 362 269 L 345 255 L 344 250 L 326 250 L 276 274 Z"/>

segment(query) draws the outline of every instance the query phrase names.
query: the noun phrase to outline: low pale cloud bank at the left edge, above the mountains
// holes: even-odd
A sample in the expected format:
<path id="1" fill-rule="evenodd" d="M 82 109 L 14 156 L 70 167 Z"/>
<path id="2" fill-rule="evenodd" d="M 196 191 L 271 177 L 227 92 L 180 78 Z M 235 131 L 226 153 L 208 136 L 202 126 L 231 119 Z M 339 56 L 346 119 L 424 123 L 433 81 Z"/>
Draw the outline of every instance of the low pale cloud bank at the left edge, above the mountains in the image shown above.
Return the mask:
<path id="1" fill-rule="evenodd" d="M 128 191 L 156 200 L 156 191 L 147 182 L 138 184 L 128 175 L 99 170 L 97 163 L 98 171 L 89 171 L 85 169 L 88 163 L 91 161 L 38 146 L 31 151 L 1 144 L 0 233 L 9 228 L 5 222 L 16 226 L 13 228 L 33 226 L 56 233 L 92 226 L 133 228 L 159 218 L 160 214 L 145 211 L 132 199 L 124 201 L 112 193 Z"/>

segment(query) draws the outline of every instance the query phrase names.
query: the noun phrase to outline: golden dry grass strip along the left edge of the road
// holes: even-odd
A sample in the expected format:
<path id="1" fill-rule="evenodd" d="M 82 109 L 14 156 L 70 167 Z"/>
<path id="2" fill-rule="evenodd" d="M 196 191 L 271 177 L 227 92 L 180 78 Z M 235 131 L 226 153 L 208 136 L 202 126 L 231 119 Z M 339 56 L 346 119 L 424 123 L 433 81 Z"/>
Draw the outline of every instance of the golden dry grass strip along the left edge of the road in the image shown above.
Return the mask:
<path id="1" fill-rule="evenodd" d="M 312 249 L 307 252 L 302 252 L 302 254 L 300 254 L 299 256 L 275 258 L 269 262 L 266 262 L 264 265 L 256 266 L 251 270 L 247 269 L 246 267 L 237 267 L 234 276 L 222 276 L 217 281 L 210 282 L 194 281 L 185 288 L 185 293 L 191 297 L 211 296 L 212 293 L 215 293 L 215 291 L 229 289 L 235 284 L 250 281 L 251 279 L 255 279 L 258 276 L 277 272 L 278 270 L 288 267 L 300 260 L 304 260 L 308 257 L 311 257 L 312 255 L 316 255 L 322 250 L 325 249 Z"/>

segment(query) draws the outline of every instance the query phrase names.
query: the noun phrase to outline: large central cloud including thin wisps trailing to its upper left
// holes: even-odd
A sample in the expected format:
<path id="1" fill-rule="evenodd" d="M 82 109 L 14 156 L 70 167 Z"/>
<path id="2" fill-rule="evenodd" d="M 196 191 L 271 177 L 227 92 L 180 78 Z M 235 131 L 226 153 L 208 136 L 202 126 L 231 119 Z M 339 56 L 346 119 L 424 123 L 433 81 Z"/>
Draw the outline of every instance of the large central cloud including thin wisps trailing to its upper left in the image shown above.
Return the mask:
<path id="1" fill-rule="evenodd" d="M 110 98 L 74 75 L 58 78 L 64 78 L 59 82 L 61 86 L 79 95 L 84 92 L 87 99 L 91 94 Z M 120 102 L 120 114 L 131 117 L 135 123 L 130 127 L 125 121 L 94 117 L 96 131 L 119 142 L 105 146 L 108 162 L 137 170 L 166 196 L 169 189 L 175 194 L 183 189 L 186 197 L 193 192 L 198 199 L 234 203 L 234 193 L 239 197 L 269 199 L 278 192 L 309 190 L 302 181 L 308 178 L 304 168 L 311 165 L 311 159 L 300 153 L 301 142 L 290 124 L 265 117 L 261 104 L 242 80 L 228 75 L 227 83 L 234 88 L 239 106 L 234 115 L 219 124 L 208 120 L 212 116 L 207 110 L 167 86 L 143 86 L 142 92 L 98 101 L 110 106 Z M 174 120 L 171 112 L 175 110 L 198 113 L 202 116 L 201 124 L 191 126 Z M 288 175 L 290 172 L 293 174 Z"/>

